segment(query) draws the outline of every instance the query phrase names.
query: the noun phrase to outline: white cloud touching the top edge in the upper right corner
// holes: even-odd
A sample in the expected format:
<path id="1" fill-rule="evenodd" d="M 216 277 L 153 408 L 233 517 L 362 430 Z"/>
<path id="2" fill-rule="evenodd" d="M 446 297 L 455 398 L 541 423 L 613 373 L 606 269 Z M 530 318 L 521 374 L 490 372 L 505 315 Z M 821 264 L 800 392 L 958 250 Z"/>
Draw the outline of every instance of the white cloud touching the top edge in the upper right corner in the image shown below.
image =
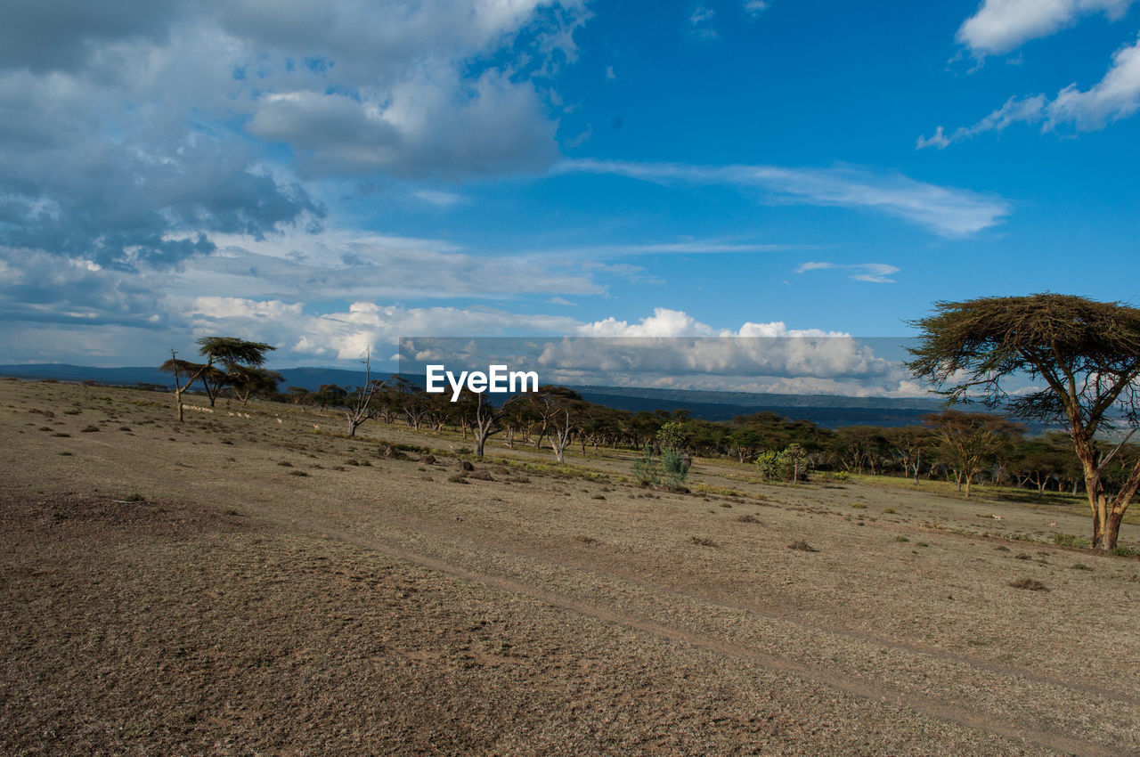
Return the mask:
<path id="1" fill-rule="evenodd" d="M 1102 13 L 1119 18 L 1135 0 L 984 0 L 958 30 L 958 41 L 976 55 L 1007 52 L 1048 36 L 1080 16 Z"/>

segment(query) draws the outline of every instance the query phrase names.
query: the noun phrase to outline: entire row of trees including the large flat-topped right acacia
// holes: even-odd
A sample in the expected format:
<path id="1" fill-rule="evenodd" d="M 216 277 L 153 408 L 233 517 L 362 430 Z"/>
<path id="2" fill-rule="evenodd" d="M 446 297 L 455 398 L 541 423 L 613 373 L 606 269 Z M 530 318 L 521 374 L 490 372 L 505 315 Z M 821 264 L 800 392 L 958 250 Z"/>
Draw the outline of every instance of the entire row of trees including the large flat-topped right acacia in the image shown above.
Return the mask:
<path id="1" fill-rule="evenodd" d="M 849 426 L 825 430 L 807 421 L 756 413 L 731 423 L 691 418 L 684 412 L 630 413 L 587 402 L 573 391 L 543 386 L 499 406 L 465 390 L 458 401 L 429 394 L 400 376 L 373 380 L 366 358 L 361 386 L 328 384 L 316 392 L 291 386 L 266 371 L 262 342 L 209 336 L 198 340 L 201 361 L 178 358 L 161 367 L 174 377 L 174 400 L 201 383 L 210 404 L 231 393 L 336 408 L 349 436 L 365 422 L 405 422 L 413 429 L 455 428 L 473 438 L 482 457 L 487 440 L 503 433 L 507 446 L 548 446 L 559 463 L 567 449 L 630 447 L 670 454 L 735 456 L 762 475 L 799 481 L 812 470 L 895 474 L 915 483 L 944 477 L 966 496 L 979 480 L 1047 489 L 1082 487 L 1092 514 L 1092 545 L 1116 546 L 1124 513 L 1140 490 L 1140 449 L 1129 443 L 1140 428 L 1140 309 L 1061 294 L 936 302 L 935 314 L 911 321 L 919 345 L 906 364 L 912 375 L 948 404 L 982 402 L 991 413 L 947 408 L 902 429 Z M 1018 382 L 1028 382 L 1017 386 Z M 1007 417 L 1008 416 L 1008 417 Z M 1028 438 L 1010 418 L 1064 429 Z M 670 426 L 670 441 L 661 430 Z M 1106 432 L 1126 426 L 1127 433 Z M 1074 462 L 1075 457 L 1075 462 Z"/>

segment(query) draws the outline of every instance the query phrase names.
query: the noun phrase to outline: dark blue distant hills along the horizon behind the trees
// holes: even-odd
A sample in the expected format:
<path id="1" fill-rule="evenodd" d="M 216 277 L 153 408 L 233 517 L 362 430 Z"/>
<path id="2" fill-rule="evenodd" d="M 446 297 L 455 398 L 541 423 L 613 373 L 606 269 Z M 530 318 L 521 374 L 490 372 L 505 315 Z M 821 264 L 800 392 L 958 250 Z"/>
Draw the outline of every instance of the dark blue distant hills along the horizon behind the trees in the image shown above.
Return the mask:
<path id="1" fill-rule="evenodd" d="M 356 386 L 364 372 L 343 368 L 277 368 L 282 384 L 316 390 L 323 384 Z M 0 375 L 58 381 L 97 381 L 135 386 L 139 383 L 170 386 L 169 374 L 154 367 L 93 368 L 65 364 L 0 365 Z M 422 377 L 416 383 L 423 383 Z M 901 426 L 920 423 L 922 415 L 942 407 L 935 398 L 841 397 L 834 394 L 776 394 L 635 386 L 571 386 L 584 399 L 622 410 L 686 409 L 695 418 L 731 421 L 738 415 L 766 410 L 792 420 L 811 421 L 834 429 L 846 425 Z"/>

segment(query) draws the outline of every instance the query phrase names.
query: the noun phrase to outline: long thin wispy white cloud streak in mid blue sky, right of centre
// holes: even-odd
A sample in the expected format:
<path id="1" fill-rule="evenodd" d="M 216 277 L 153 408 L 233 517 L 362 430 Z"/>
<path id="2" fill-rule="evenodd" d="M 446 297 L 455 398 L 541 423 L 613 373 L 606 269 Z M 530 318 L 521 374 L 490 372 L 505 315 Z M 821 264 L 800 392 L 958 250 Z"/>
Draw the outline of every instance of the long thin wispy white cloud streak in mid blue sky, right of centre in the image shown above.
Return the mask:
<path id="1" fill-rule="evenodd" d="M 776 165 L 706 166 L 624 161 L 563 161 L 556 171 L 606 173 L 659 184 L 727 185 L 762 189 L 768 202 L 830 205 L 883 213 L 960 237 L 1009 214 L 1003 200 L 868 169 L 789 169 Z"/>

